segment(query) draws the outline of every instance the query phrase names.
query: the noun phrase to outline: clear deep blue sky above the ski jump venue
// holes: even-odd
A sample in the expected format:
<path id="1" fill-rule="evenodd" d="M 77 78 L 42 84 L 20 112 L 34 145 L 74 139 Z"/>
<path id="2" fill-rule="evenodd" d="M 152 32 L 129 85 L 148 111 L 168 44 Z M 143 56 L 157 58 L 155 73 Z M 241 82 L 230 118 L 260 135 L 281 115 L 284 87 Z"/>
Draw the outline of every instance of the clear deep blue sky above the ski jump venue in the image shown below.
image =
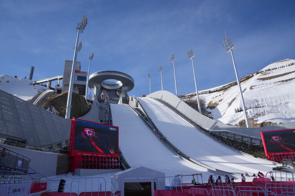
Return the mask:
<path id="1" fill-rule="evenodd" d="M 239 75 L 294 59 L 294 6 L 293 0 L 0 0 L 0 75 L 28 78 L 31 66 L 33 80 L 62 75 L 64 60 L 73 60 L 77 22 L 87 12 L 77 58 L 82 71 L 93 51 L 90 74 L 125 72 L 135 80 L 128 94 L 141 96 L 149 94 L 148 73 L 152 92 L 161 90 L 161 65 L 163 89 L 175 93 L 173 53 L 178 94 L 191 93 L 189 46 L 196 55 L 198 90 L 235 80 L 231 55 L 222 46 L 224 31 L 236 46 Z"/>

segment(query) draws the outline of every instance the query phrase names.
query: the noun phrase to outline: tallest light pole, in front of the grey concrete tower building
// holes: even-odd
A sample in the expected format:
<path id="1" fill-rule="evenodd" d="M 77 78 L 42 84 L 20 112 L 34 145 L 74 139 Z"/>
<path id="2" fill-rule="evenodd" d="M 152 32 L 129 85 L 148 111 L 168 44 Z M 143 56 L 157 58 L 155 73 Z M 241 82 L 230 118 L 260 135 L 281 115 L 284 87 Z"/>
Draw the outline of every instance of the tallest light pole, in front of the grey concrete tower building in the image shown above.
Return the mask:
<path id="1" fill-rule="evenodd" d="M 74 83 L 74 75 L 75 75 L 75 66 L 76 66 L 76 60 L 77 60 L 77 53 L 81 50 L 82 47 L 82 42 L 81 47 L 79 49 L 78 47 L 78 40 L 79 40 L 79 34 L 83 33 L 85 27 L 87 25 L 87 14 L 84 14 L 84 17 L 82 18 L 81 22 L 77 24 L 77 39 L 76 39 L 76 46 L 75 46 L 75 51 L 74 51 L 74 59 L 73 59 L 73 65 L 72 65 L 72 72 L 71 72 L 71 79 L 70 79 L 70 84 L 69 84 L 69 94 L 68 94 L 68 101 L 67 101 L 67 107 L 66 107 L 66 116 L 65 118 L 70 118 L 70 113 L 71 113 L 71 104 L 72 104 L 72 92 L 73 92 L 73 83 Z"/>

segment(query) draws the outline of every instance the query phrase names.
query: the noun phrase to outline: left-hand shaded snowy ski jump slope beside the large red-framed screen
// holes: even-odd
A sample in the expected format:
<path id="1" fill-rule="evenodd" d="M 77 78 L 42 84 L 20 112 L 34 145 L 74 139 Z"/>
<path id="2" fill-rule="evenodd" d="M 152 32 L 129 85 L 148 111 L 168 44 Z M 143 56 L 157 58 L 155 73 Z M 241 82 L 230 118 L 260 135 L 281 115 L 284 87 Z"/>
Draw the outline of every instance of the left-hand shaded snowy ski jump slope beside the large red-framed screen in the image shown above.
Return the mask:
<path id="1" fill-rule="evenodd" d="M 163 172 L 165 176 L 202 173 L 204 182 L 207 182 L 212 173 L 168 150 L 133 109 L 123 104 L 111 104 L 111 110 L 113 125 L 119 127 L 119 148 L 130 167 L 144 166 Z M 191 180 L 191 176 L 183 177 L 184 183 Z"/>

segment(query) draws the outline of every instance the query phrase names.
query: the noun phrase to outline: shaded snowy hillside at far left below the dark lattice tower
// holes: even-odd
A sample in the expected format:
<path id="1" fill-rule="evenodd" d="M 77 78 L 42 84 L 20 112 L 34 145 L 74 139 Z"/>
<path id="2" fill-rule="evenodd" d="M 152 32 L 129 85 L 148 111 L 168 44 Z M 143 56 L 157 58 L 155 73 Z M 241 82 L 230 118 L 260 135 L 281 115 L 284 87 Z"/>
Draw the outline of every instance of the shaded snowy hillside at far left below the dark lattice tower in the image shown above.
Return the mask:
<path id="1" fill-rule="evenodd" d="M 9 75 L 0 76 L 0 89 L 25 101 L 33 98 L 39 92 L 47 90 L 45 86 L 33 85 L 32 80 Z"/>

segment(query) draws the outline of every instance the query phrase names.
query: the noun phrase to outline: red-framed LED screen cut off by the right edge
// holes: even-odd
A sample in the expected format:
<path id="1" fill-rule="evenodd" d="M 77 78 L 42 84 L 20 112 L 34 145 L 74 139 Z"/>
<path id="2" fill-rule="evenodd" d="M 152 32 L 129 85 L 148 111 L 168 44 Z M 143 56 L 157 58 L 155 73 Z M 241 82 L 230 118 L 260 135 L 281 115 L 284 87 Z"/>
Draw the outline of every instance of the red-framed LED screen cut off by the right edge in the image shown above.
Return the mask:
<path id="1" fill-rule="evenodd" d="M 262 131 L 261 138 L 266 156 L 295 152 L 295 129 Z"/>

